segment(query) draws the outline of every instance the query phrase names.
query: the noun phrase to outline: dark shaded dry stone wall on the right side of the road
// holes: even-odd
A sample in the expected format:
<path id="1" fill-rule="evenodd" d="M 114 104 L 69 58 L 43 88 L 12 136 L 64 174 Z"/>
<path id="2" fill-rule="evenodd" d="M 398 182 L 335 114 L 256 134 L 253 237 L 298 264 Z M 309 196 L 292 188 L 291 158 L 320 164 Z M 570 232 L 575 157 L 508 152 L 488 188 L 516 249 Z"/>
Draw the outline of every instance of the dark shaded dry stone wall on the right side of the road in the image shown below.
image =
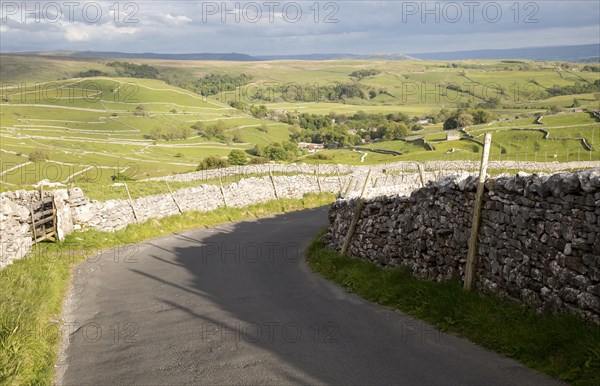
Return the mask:
<path id="1" fill-rule="evenodd" d="M 367 200 L 349 254 L 415 276 L 462 280 L 474 176 L 430 182 L 410 196 Z M 341 250 L 358 201 L 338 200 L 324 240 Z M 600 171 L 489 179 L 475 284 L 539 311 L 600 323 Z"/>

